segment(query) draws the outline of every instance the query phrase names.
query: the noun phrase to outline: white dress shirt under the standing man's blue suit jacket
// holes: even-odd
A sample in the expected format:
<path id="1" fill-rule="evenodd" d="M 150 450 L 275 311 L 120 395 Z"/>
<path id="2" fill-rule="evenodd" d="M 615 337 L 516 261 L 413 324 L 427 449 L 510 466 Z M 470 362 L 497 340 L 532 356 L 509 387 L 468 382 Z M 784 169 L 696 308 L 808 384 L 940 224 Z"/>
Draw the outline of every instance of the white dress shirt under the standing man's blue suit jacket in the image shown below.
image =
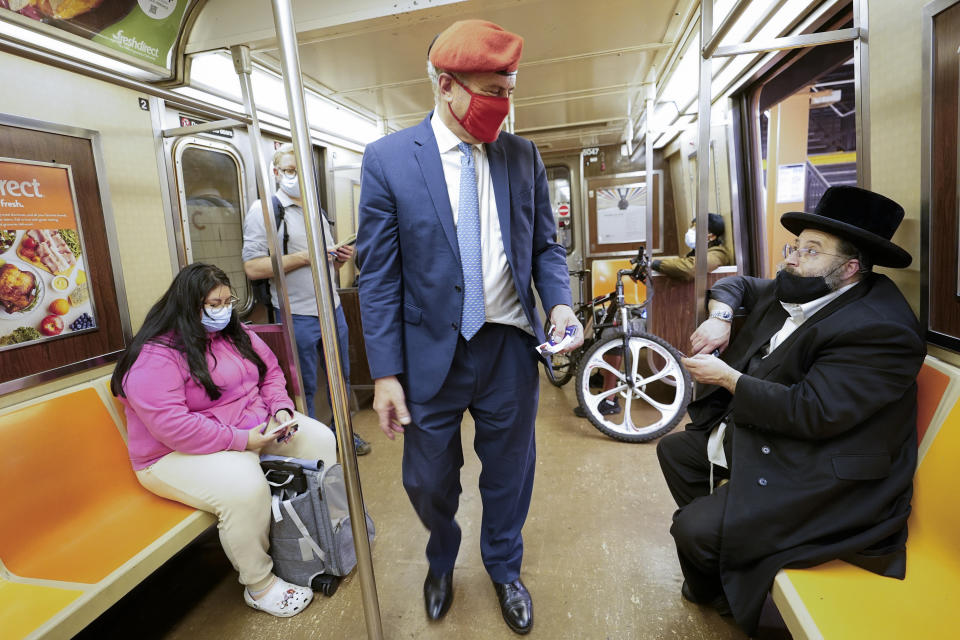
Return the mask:
<path id="1" fill-rule="evenodd" d="M 433 127 L 433 135 L 437 139 L 443 177 L 447 181 L 447 194 L 450 196 L 450 208 L 453 211 L 453 223 L 456 225 L 460 210 L 460 158 L 463 155 L 457 145 L 462 140 L 443 123 L 437 111 L 434 111 L 430 118 L 430 126 Z M 533 329 L 523 313 L 523 307 L 520 306 L 510 264 L 507 262 L 507 253 L 504 251 L 487 151 L 482 144 L 472 146 L 473 163 L 477 171 L 477 193 L 480 197 L 483 305 L 487 322 L 512 325 L 533 335 Z"/>

